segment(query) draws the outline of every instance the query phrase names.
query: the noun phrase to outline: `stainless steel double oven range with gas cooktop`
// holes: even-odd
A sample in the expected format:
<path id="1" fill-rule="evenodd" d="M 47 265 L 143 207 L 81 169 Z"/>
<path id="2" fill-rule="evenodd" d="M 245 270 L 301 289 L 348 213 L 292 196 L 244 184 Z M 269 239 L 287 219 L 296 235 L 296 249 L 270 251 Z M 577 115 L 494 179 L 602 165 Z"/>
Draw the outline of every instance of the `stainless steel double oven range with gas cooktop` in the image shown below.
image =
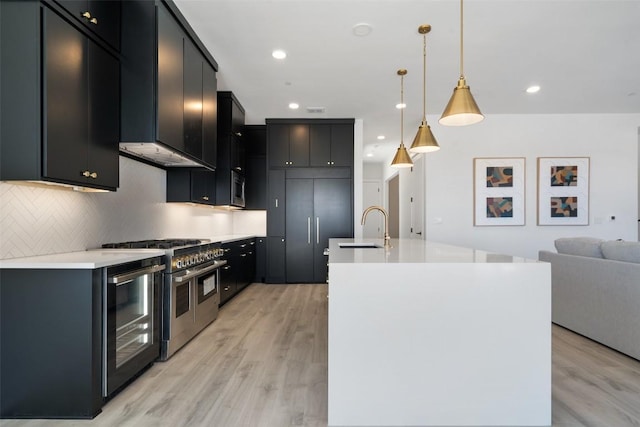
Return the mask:
<path id="1" fill-rule="evenodd" d="M 105 248 L 163 249 L 160 360 L 167 360 L 218 316 L 219 243 L 207 239 L 163 239 L 109 243 Z"/>

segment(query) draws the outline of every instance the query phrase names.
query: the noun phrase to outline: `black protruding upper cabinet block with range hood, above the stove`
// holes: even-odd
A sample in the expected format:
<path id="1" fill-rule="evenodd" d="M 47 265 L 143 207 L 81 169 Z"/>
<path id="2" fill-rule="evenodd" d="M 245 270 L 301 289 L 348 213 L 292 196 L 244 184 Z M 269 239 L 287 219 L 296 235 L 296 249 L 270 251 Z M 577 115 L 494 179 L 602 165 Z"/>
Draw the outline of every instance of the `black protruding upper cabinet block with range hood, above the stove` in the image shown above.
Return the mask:
<path id="1" fill-rule="evenodd" d="M 159 143 L 214 170 L 217 63 L 173 2 L 127 0 L 121 7 L 121 141 Z"/>

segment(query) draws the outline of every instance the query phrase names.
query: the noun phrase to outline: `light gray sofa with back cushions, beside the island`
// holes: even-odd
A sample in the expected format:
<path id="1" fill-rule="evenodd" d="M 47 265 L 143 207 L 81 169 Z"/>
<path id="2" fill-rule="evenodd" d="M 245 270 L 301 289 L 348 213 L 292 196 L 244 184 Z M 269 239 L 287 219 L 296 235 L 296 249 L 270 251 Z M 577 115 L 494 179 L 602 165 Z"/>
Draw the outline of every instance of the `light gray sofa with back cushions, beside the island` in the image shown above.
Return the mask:
<path id="1" fill-rule="evenodd" d="M 551 263 L 552 321 L 640 360 L 640 242 L 561 238 Z"/>

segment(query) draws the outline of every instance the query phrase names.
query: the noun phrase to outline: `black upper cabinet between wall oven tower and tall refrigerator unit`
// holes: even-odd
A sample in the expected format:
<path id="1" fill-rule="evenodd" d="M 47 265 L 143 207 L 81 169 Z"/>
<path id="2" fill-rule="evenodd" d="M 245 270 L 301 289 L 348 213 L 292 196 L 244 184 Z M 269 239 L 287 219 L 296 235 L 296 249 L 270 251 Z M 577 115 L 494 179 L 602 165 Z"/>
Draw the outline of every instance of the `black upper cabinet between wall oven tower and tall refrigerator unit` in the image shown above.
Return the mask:
<path id="1" fill-rule="evenodd" d="M 267 208 L 267 127 L 244 127 L 246 148 L 245 209 Z"/>

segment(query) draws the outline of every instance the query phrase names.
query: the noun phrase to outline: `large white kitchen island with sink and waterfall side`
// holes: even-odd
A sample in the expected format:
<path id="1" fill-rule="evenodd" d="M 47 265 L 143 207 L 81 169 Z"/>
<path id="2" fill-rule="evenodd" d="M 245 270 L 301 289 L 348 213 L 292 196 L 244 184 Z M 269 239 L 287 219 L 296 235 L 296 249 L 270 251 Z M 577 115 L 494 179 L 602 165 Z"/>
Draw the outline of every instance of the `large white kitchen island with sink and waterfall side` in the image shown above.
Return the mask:
<path id="1" fill-rule="evenodd" d="M 549 264 L 344 242 L 363 241 L 329 245 L 329 426 L 551 425 Z"/>

